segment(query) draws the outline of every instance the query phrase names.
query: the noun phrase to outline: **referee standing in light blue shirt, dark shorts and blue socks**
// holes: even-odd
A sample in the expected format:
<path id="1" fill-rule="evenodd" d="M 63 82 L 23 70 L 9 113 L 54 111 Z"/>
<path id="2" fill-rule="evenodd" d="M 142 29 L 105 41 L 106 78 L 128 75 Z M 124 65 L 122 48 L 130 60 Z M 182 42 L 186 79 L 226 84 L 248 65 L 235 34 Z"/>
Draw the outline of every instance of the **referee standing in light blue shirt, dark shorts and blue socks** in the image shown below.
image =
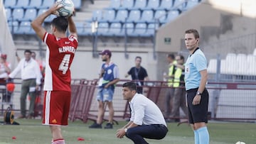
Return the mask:
<path id="1" fill-rule="evenodd" d="M 188 99 L 188 121 L 194 131 L 195 144 L 208 144 L 209 94 L 207 83 L 207 60 L 198 47 L 199 33 L 195 29 L 185 32 L 185 44 L 190 55 L 185 64 L 185 82 Z"/>

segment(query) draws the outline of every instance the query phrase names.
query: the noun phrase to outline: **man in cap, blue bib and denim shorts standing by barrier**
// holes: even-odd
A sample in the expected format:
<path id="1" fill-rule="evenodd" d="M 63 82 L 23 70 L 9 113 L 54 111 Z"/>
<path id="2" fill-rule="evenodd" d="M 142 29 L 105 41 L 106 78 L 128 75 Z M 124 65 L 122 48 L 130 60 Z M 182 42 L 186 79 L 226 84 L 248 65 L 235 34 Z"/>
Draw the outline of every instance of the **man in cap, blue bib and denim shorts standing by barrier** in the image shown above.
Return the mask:
<path id="1" fill-rule="evenodd" d="M 119 70 L 117 65 L 110 61 L 112 53 L 110 50 L 103 50 L 100 52 L 102 55 L 102 61 L 105 62 L 100 68 L 100 80 L 98 84 L 98 114 L 97 122 L 93 123 L 89 128 L 102 128 L 102 119 L 105 113 L 105 104 L 109 109 L 109 121 L 104 128 L 113 128 L 113 117 L 114 108 L 112 104 L 112 99 L 114 95 L 114 87 L 117 82 L 119 82 Z"/>

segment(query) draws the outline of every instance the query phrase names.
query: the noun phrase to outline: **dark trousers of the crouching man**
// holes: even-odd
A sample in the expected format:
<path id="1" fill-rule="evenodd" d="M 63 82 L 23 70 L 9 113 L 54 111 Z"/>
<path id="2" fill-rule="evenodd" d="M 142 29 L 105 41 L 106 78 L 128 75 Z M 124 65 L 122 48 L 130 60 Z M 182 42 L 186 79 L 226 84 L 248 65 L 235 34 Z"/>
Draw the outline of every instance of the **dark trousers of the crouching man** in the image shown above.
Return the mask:
<path id="1" fill-rule="evenodd" d="M 148 144 L 144 138 L 160 140 L 166 136 L 168 128 L 164 125 L 143 125 L 129 128 L 126 136 L 131 139 L 134 144 Z"/>

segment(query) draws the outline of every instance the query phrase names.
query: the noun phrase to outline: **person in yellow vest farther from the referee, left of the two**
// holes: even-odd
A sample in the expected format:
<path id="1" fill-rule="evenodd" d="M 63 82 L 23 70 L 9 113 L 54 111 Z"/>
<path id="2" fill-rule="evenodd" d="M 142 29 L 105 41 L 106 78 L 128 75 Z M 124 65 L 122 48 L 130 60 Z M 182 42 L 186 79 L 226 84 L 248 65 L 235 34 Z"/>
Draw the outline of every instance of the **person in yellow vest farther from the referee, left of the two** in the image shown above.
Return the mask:
<path id="1" fill-rule="evenodd" d="M 174 54 L 167 55 L 167 61 L 169 62 L 168 65 L 168 72 L 167 74 L 164 74 L 164 79 L 167 81 L 168 88 L 166 90 L 166 96 L 165 96 L 165 109 L 164 109 L 164 118 L 166 121 L 169 121 L 169 116 L 171 114 L 171 98 L 174 96 L 174 73 L 176 70 L 176 60 Z"/>

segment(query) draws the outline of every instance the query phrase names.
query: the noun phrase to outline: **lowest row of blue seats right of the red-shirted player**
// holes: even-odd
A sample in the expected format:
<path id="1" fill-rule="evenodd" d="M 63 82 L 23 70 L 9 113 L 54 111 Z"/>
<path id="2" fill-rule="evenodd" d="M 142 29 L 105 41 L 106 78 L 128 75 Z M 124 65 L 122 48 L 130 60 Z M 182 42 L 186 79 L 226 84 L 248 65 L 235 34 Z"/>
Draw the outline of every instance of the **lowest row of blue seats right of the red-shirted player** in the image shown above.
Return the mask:
<path id="1" fill-rule="evenodd" d="M 78 35 L 92 35 L 92 23 L 79 22 L 76 23 L 78 28 Z M 97 35 L 100 36 L 116 36 L 124 37 L 124 35 L 131 37 L 150 37 L 154 35 L 154 23 L 98 23 Z"/>

